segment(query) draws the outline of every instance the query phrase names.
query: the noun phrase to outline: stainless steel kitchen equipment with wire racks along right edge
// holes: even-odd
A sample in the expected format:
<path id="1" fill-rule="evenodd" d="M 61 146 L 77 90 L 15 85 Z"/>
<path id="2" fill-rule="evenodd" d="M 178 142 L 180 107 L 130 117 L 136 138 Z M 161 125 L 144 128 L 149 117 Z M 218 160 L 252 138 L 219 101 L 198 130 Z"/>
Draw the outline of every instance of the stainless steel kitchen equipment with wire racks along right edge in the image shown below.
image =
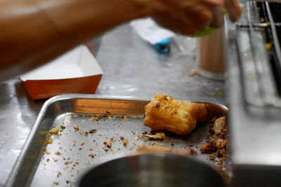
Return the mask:
<path id="1" fill-rule="evenodd" d="M 242 1 L 228 23 L 231 158 L 235 186 L 281 185 L 281 4 Z"/>

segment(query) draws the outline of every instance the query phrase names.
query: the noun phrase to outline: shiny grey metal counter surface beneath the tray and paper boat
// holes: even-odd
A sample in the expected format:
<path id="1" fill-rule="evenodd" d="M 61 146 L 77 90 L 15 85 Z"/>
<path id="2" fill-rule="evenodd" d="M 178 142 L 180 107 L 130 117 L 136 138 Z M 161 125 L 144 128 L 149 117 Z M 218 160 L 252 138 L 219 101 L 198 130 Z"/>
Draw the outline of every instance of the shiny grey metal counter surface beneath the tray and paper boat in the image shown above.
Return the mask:
<path id="1" fill-rule="evenodd" d="M 189 76 L 196 40 L 176 36 L 169 55 L 160 55 L 125 24 L 103 35 L 96 55 L 103 78 L 96 94 L 153 97 L 226 104 L 223 81 Z M 185 50 L 179 50 L 179 46 Z M 18 78 L 0 83 L 0 186 L 4 186 L 46 100 L 33 101 Z"/>

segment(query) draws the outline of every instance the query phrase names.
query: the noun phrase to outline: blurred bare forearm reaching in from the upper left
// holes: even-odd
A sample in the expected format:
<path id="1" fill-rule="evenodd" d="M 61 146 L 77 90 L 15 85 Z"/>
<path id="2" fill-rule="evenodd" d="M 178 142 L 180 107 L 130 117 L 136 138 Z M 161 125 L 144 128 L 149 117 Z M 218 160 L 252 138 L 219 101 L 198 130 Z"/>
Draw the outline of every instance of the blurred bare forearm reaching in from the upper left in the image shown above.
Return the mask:
<path id="1" fill-rule="evenodd" d="M 53 59 L 123 22 L 149 15 L 131 0 L 0 1 L 0 80 Z"/>

